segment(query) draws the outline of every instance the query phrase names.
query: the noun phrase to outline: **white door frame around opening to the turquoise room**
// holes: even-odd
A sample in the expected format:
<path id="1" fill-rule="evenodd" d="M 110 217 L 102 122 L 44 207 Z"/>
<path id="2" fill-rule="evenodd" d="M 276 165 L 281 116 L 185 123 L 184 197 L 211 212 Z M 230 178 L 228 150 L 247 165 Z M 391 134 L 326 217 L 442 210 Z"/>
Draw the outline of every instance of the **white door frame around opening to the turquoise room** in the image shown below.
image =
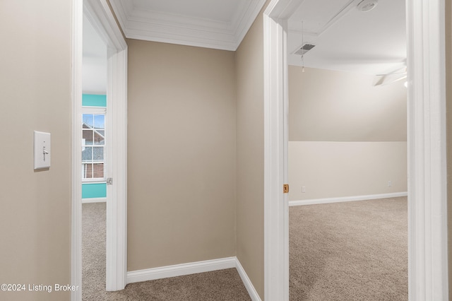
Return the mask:
<path id="1" fill-rule="evenodd" d="M 127 273 L 127 44 L 107 0 L 72 2 L 72 90 L 71 90 L 71 283 L 78 290 L 71 300 L 81 300 L 82 206 L 81 206 L 81 116 L 83 14 L 107 45 L 107 141 L 114 143 L 107 154 L 107 290 L 122 290 Z"/>

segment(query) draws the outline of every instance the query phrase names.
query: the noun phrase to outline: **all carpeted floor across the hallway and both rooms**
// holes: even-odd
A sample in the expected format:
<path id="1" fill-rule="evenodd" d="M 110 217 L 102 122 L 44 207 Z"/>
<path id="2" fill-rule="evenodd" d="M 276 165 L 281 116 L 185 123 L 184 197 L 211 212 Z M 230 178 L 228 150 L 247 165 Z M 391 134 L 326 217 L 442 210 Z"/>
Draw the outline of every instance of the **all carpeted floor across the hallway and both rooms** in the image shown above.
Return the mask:
<path id="1" fill-rule="evenodd" d="M 407 198 L 290 207 L 290 301 L 408 300 Z M 251 300 L 234 268 L 105 291 L 105 203 L 83 204 L 83 300 Z"/>

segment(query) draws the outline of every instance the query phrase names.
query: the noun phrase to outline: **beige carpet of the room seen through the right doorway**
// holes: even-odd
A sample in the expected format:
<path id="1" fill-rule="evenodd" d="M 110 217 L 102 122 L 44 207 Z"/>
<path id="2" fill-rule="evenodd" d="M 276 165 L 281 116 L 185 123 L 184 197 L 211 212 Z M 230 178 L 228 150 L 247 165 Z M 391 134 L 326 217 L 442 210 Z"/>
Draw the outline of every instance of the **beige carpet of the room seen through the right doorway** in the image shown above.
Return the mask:
<path id="1" fill-rule="evenodd" d="M 290 207 L 290 301 L 408 300 L 407 198 Z"/>

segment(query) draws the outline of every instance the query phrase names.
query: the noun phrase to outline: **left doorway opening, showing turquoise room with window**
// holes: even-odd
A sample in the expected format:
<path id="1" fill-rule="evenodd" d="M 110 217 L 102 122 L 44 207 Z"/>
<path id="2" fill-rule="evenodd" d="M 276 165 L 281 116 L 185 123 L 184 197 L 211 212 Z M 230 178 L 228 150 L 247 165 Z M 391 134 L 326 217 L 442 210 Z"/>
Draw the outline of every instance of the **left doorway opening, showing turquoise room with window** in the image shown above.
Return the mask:
<path id="1" fill-rule="evenodd" d="M 105 163 L 112 144 L 107 108 L 107 46 L 85 14 L 83 16 L 82 64 L 82 299 L 102 296 L 106 287 L 106 207 L 108 201 Z"/>

